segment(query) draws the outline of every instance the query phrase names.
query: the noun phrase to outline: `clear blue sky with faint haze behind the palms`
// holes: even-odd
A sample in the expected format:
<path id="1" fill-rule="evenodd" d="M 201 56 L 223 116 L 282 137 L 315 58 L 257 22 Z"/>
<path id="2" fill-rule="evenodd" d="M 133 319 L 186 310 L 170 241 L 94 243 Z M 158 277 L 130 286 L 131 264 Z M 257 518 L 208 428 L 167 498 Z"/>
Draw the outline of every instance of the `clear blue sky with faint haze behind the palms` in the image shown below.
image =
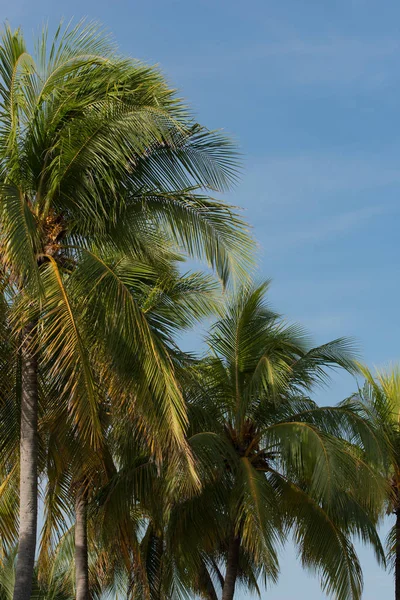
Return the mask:
<path id="1" fill-rule="evenodd" d="M 320 343 L 354 336 L 369 365 L 399 351 L 400 3 L 396 0 L 0 0 L 26 34 L 48 21 L 100 20 L 121 51 L 159 63 L 199 121 L 244 154 L 227 199 L 260 243 L 270 299 Z M 355 388 L 335 377 L 319 393 Z M 365 600 L 392 578 L 361 550 Z M 264 596 L 264 594 L 263 594 Z M 244 600 L 245 594 L 241 594 Z M 282 557 L 270 600 L 320 600 L 318 581 Z"/>

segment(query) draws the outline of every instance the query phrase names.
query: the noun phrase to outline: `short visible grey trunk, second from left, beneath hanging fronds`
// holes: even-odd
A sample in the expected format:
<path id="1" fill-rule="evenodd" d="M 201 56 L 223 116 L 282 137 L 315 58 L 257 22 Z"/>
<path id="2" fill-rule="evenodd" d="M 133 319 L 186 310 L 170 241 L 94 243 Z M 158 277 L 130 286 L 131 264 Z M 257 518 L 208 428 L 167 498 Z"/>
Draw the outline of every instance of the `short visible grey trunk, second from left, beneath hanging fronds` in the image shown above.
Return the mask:
<path id="1" fill-rule="evenodd" d="M 76 600 L 90 600 L 85 490 L 80 485 L 75 498 Z"/>

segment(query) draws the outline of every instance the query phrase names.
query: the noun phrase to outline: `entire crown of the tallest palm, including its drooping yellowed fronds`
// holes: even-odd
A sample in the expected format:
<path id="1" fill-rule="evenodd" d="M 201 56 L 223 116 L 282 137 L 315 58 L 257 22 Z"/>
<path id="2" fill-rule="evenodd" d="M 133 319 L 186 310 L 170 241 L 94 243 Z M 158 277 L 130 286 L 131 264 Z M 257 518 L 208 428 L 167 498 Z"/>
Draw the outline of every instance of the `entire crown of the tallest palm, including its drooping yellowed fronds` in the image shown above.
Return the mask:
<path id="1" fill-rule="evenodd" d="M 67 439 L 70 427 L 72 436 L 101 454 L 105 398 L 108 405 L 126 402 L 132 411 L 148 402 L 151 426 L 162 423 L 165 448 L 187 454 L 196 479 L 171 348 L 174 328 L 209 314 L 212 302 L 206 307 L 194 290 L 212 286 L 199 275 L 179 277 L 176 263 L 182 252 L 205 259 L 224 284 L 248 269 L 252 243 L 245 223 L 210 197 L 225 190 L 236 172 L 231 142 L 196 123 L 157 69 L 121 57 L 96 25 L 60 26 L 52 40 L 44 30 L 33 54 L 20 30 L 5 27 L 1 300 L 5 329 L 16 343 L 11 370 L 1 369 L 1 410 L 11 403 L 7 421 L 17 440 L 19 340 L 29 325 L 40 431 L 29 425 L 41 446 L 26 470 L 32 490 L 37 462 L 41 472 L 55 471 L 48 498 L 61 495 L 58 506 L 50 503 L 54 510 L 46 521 L 60 518 L 68 489 L 68 473 L 57 479 L 64 457 L 57 455 L 55 438 Z M 58 429 L 54 422 L 49 426 L 51 418 Z M 19 472 L 9 435 L 0 451 L 1 525 L 10 547 Z M 51 527 L 47 541 L 50 534 Z M 24 569 L 29 581 L 31 565 Z"/>

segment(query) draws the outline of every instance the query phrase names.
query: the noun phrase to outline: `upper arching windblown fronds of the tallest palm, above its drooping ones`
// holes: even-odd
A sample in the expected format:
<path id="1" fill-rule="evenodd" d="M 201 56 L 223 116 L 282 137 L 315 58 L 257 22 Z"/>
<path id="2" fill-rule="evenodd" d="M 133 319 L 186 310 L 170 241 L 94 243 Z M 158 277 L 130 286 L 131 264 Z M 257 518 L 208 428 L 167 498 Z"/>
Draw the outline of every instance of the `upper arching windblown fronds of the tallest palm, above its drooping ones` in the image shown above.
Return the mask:
<path id="1" fill-rule="evenodd" d="M 34 276 L 38 255 L 67 263 L 93 241 L 145 250 L 160 225 L 224 279 L 246 265 L 244 223 L 197 194 L 229 186 L 236 150 L 190 118 L 159 71 L 79 23 L 51 42 L 44 30 L 35 55 L 6 26 L 0 77 L 2 251 L 20 276 Z"/>

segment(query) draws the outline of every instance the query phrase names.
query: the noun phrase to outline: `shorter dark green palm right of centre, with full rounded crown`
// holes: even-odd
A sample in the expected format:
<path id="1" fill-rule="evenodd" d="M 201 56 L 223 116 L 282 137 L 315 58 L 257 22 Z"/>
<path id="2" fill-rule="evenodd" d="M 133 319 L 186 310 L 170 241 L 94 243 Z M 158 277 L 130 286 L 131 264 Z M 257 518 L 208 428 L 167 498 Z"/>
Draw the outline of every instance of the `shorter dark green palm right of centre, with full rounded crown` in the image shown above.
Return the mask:
<path id="1" fill-rule="evenodd" d="M 357 404 L 319 407 L 309 398 L 327 368 L 355 371 L 352 347 L 345 339 L 310 346 L 268 308 L 266 288 L 239 292 L 193 370 L 189 443 L 204 496 L 179 507 L 173 534 L 183 556 L 203 553 L 223 600 L 232 600 L 238 578 L 276 580 L 290 532 L 325 591 L 360 598 L 351 538 L 371 543 L 384 561 L 375 530 L 385 489 L 374 467 L 379 440 Z"/>

